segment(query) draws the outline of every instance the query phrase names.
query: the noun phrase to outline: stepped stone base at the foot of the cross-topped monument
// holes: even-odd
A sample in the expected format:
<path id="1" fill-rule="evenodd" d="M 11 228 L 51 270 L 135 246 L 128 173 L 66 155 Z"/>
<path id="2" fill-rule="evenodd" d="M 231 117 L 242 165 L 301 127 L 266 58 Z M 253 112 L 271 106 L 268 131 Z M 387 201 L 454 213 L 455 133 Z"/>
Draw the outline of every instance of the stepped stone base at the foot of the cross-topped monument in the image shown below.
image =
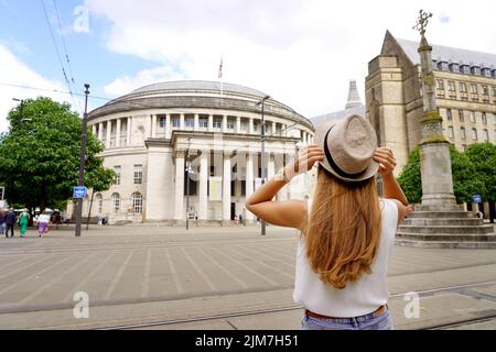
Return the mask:
<path id="1" fill-rule="evenodd" d="M 493 224 L 463 206 L 416 206 L 398 227 L 396 244 L 419 248 L 496 249 Z"/>

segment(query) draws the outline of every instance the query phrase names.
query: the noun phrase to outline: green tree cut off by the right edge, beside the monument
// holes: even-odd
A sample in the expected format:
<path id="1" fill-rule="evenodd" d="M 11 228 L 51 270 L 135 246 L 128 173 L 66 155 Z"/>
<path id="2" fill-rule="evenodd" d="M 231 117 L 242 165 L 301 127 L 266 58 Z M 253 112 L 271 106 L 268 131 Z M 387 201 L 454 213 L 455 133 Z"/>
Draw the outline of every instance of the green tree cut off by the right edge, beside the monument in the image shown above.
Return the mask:
<path id="1" fill-rule="evenodd" d="M 496 145 L 472 144 L 465 154 L 474 164 L 474 177 L 483 184 L 474 194 L 481 195 L 484 201 L 496 201 Z"/>

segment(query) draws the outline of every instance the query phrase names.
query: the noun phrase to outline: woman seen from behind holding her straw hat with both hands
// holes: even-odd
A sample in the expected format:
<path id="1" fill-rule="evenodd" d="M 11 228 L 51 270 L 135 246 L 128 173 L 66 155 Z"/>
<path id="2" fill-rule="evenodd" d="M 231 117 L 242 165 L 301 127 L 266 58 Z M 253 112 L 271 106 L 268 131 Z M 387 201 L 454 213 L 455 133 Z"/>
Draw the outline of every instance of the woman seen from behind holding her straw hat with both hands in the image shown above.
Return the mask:
<path id="1" fill-rule="evenodd" d="M 305 308 L 301 329 L 392 329 L 387 260 L 408 206 L 392 174 L 395 156 L 377 147 L 376 132 L 357 114 L 324 123 L 314 143 L 252 194 L 247 209 L 266 222 L 300 230 L 293 299 Z M 311 205 L 272 200 L 314 166 Z M 385 198 L 378 196 L 377 175 Z"/>

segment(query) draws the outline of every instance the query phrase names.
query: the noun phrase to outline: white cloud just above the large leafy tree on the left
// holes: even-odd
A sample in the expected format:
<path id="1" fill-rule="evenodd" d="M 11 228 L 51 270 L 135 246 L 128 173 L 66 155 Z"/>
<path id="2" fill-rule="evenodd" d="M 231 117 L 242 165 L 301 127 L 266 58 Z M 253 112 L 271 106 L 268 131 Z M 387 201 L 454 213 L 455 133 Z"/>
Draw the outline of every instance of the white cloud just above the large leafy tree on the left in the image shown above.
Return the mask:
<path id="1" fill-rule="evenodd" d="M 19 103 L 13 101 L 13 98 L 28 99 L 45 96 L 61 102 L 73 101 L 69 96 L 54 91 L 66 91 L 66 88 L 64 88 L 62 82 L 50 80 L 39 75 L 25 64 L 20 62 L 8 47 L 1 44 L 0 63 L 0 132 L 6 132 L 8 130 L 9 123 L 7 121 L 7 116 L 9 111 Z M 7 86 L 6 84 L 43 88 L 47 90 L 40 91 L 35 89 Z M 77 99 L 75 108 L 79 107 L 79 103 L 80 99 Z"/>

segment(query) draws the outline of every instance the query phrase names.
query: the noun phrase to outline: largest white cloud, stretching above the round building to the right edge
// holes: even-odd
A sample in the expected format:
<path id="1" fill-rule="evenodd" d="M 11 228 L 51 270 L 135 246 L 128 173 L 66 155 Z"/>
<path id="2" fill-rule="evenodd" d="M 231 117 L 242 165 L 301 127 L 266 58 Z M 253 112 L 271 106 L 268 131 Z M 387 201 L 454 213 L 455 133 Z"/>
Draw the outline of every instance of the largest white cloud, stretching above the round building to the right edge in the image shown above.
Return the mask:
<path id="1" fill-rule="evenodd" d="M 367 64 L 387 29 L 418 40 L 419 9 L 433 12 L 431 43 L 496 53 L 496 2 L 462 0 L 89 0 L 112 23 L 107 47 L 155 63 L 110 82 L 122 95 L 169 79 L 217 79 L 262 90 L 306 117 L 339 110 L 349 79 L 364 99 Z M 449 19 L 449 21 L 446 21 Z"/>

